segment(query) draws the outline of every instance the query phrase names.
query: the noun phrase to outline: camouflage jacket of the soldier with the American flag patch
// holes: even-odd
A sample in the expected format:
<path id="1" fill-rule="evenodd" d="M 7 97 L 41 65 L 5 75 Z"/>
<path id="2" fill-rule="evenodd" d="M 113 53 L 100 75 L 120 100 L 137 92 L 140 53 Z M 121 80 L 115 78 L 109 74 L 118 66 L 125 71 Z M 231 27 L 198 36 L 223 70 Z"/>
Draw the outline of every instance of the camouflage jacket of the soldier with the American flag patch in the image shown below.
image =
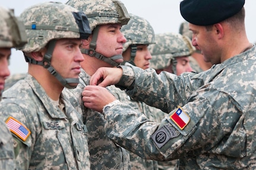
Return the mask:
<path id="1" fill-rule="evenodd" d="M 81 114 L 63 96 L 60 105 L 65 113 L 31 75 L 4 92 L 1 119 L 12 116 L 31 131 L 24 141 L 12 134 L 17 168 L 90 168 L 87 129 Z"/>

